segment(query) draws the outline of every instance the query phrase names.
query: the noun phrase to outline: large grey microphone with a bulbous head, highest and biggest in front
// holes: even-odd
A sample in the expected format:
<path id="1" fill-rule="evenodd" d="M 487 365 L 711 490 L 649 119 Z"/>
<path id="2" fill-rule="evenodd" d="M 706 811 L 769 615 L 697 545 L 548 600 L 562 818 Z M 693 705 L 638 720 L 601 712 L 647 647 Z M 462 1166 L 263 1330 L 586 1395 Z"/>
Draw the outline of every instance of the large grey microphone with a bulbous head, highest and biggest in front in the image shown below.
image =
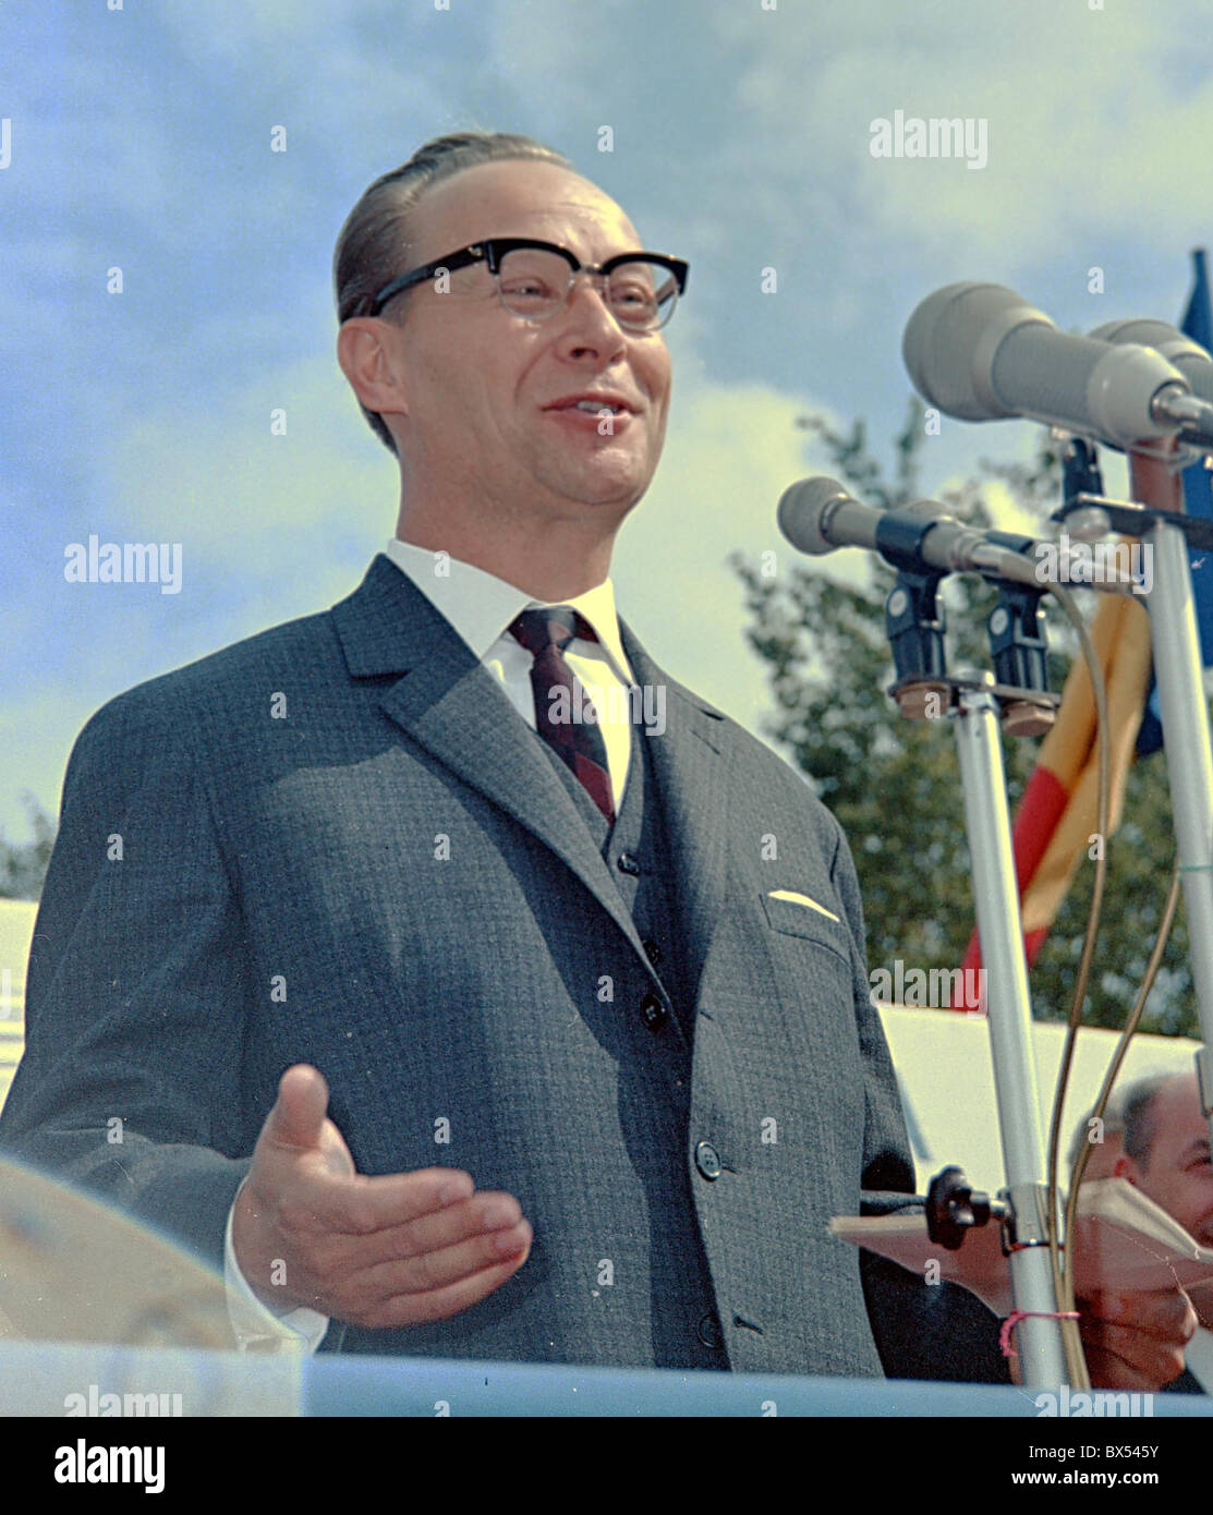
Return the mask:
<path id="1" fill-rule="evenodd" d="M 1059 332 L 1003 285 L 936 289 L 910 317 L 901 355 L 922 398 L 962 421 L 1028 417 L 1115 447 L 1184 426 L 1213 441 L 1213 405 L 1162 353 Z"/>

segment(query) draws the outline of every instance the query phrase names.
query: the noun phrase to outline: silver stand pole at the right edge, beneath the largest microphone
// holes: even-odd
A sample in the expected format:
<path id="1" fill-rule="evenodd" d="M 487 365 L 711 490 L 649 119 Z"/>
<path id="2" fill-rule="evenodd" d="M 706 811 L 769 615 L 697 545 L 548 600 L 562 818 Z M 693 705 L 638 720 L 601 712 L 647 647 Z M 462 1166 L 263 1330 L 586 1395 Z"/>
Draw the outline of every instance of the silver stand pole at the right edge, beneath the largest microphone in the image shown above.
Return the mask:
<path id="1" fill-rule="evenodd" d="M 1201 682 L 1187 538 L 1180 527 L 1155 521 L 1145 535 L 1145 544 L 1154 550 L 1154 582 L 1146 595 L 1149 636 L 1187 914 L 1187 951 L 1204 1041 L 1196 1068 L 1201 1101 L 1213 1132 L 1213 753 L 1208 714 Z"/>

